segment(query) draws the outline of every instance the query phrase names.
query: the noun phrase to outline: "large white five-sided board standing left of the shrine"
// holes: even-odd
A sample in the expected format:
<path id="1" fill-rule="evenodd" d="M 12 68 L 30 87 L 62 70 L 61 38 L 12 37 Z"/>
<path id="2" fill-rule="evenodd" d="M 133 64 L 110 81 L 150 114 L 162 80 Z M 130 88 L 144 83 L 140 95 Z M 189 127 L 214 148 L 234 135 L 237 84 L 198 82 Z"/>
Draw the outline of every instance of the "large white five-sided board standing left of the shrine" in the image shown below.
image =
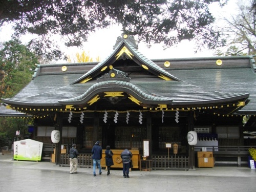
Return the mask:
<path id="1" fill-rule="evenodd" d="M 42 156 L 42 142 L 25 139 L 14 142 L 13 159 L 26 161 L 40 161 Z"/>

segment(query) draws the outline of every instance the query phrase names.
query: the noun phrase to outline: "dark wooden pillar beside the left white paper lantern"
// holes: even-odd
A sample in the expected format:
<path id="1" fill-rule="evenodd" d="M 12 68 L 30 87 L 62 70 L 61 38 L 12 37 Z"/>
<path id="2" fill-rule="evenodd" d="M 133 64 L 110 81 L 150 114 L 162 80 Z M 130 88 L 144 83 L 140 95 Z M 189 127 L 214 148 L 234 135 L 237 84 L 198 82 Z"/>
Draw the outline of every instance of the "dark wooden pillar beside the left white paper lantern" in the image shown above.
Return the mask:
<path id="1" fill-rule="evenodd" d="M 60 165 L 60 153 L 61 153 L 61 145 L 62 145 L 62 127 L 63 127 L 63 114 L 57 113 L 57 130 L 60 132 L 60 138 L 55 148 L 56 165 L 57 164 Z"/>

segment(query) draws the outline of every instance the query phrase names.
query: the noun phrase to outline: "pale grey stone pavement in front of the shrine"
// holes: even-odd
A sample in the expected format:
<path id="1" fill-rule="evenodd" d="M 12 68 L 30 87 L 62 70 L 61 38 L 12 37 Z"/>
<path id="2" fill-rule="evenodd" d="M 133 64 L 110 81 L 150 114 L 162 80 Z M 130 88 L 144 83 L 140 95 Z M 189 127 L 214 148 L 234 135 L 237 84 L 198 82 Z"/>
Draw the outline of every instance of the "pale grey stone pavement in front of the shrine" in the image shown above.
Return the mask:
<path id="1" fill-rule="evenodd" d="M 97 170 L 98 172 L 98 170 Z M 92 168 L 79 168 L 69 174 L 69 167 L 50 162 L 15 161 L 12 155 L 0 155 L 0 190 L 5 192 L 48 191 L 256 191 L 255 169 L 248 167 L 213 167 L 196 170 L 133 170 L 130 178 L 122 177 L 122 170 L 111 175 Z"/>

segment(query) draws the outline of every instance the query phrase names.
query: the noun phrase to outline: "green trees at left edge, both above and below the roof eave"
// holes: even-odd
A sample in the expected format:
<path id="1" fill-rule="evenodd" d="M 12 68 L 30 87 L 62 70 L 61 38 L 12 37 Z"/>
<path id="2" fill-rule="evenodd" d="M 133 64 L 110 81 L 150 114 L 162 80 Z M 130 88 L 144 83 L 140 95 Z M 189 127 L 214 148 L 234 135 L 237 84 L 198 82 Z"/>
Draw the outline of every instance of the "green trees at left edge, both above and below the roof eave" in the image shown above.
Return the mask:
<path id="1" fill-rule="evenodd" d="M 13 97 L 23 89 L 31 81 L 37 62 L 36 55 L 17 38 L 4 42 L 0 46 L 0 97 Z M 20 139 L 24 139 L 29 134 L 28 121 L 31 120 L 0 118 L 1 146 L 9 146 L 16 131 L 21 131 Z"/>

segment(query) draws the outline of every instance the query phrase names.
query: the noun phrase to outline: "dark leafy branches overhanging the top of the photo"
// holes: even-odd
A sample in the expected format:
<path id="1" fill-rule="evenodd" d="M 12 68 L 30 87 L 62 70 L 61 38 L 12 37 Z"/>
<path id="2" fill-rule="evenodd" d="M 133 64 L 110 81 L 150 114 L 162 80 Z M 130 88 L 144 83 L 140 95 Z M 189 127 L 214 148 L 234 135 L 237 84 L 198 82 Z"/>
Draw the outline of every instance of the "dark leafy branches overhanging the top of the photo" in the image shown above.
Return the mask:
<path id="1" fill-rule="evenodd" d="M 214 49 L 224 43 L 211 26 L 215 18 L 208 6 L 215 2 L 223 6 L 227 0 L 2 0 L 0 26 L 12 23 L 16 36 L 36 34 L 29 45 L 48 59 L 63 58 L 56 34 L 66 46 L 81 46 L 91 32 L 113 24 L 149 47 L 196 39 L 198 49 Z"/>

